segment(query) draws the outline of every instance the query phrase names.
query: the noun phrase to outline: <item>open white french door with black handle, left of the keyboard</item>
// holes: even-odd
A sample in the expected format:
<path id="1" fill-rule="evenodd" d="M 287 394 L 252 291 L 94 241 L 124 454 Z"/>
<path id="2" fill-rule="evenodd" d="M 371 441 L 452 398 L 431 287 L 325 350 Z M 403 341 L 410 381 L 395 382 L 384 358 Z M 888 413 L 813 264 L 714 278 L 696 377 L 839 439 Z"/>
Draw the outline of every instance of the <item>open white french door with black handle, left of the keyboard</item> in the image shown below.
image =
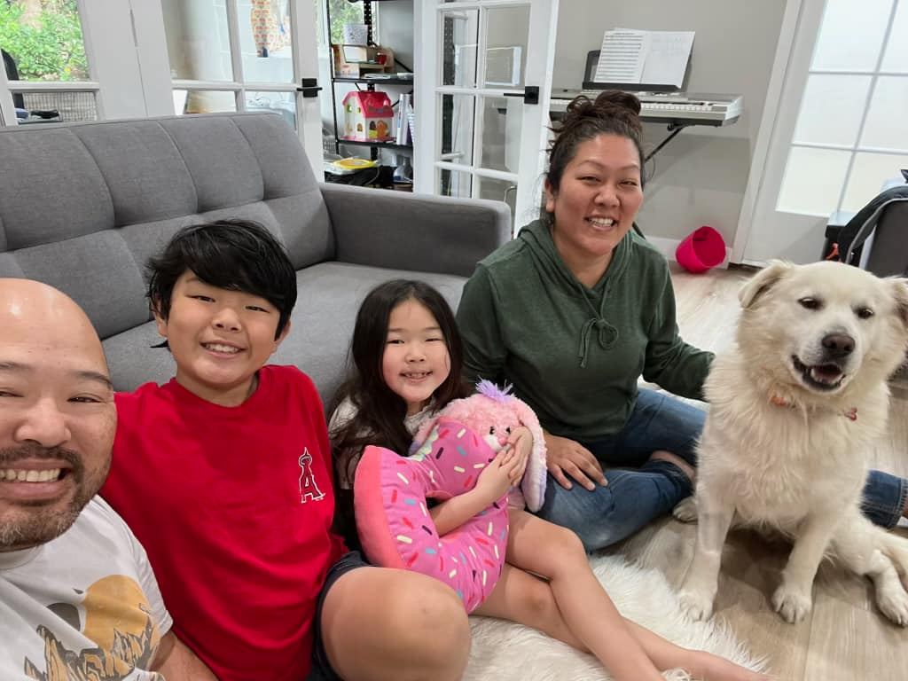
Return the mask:
<path id="1" fill-rule="evenodd" d="M 414 3 L 414 191 L 538 216 L 558 0 Z"/>

